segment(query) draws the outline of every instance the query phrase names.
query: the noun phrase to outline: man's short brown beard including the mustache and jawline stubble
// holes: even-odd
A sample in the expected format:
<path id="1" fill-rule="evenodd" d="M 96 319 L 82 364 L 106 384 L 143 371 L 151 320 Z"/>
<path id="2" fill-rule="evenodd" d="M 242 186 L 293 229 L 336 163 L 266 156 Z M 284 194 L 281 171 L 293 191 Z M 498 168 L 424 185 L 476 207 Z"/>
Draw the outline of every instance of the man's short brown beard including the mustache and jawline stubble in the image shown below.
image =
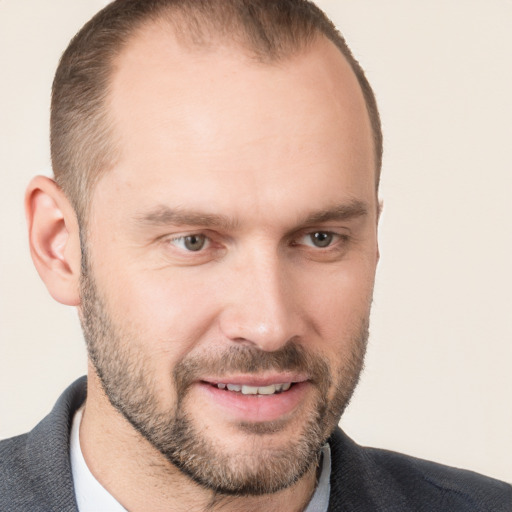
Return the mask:
<path id="1" fill-rule="evenodd" d="M 328 361 L 307 351 L 297 340 L 265 352 L 254 346 L 231 345 L 221 353 L 186 355 L 175 365 L 172 381 L 156 382 L 149 351 L 129 322 L 116 322 L 83 260 L 80 321 L 89 359 L 103 390 L 132 427 L 171 464 L 205 489 L 221 495 L 263 495 L 285 489 L 316 467 L 321 447 L 335 429 L 359 380 L 368 339 L 368 316 L 352 336 L 348 357 L 335 375 Z M 184 320 L 186 321 L 186 320 Z M 169 340 L 167 340 L 169 341 Z M 174 342 L 174 341 L 173 341 Z M 208 436 L 194 420 L 189 391 L 201 375 L 258 374 L 266 370 L 307 374 L 313 403 L 304 409 L 293 439 L 274 446 L 271 436 L 286 420 L 239 423 L 247 453 L 233 452 Z M 173 405 L 162 405 L 162 392 L 174 393 Z M 197 410 L 195 411 L 197 414 Z"/>

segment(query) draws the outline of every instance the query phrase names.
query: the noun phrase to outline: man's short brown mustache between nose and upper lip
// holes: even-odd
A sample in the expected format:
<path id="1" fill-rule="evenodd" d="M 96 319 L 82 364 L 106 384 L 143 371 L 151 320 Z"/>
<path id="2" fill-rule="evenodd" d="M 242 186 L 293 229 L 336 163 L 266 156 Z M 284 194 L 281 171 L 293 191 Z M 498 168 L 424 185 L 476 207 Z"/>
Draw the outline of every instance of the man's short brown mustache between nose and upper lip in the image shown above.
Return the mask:
<path id="1" fill-rule="evenodd" d="M 188 356 L 175 366 L 174 382 L 180 397 L 193 382 L 204 375 L 257 374 L 269 370 L 306 374 L 313 384 L 323 389 L 327 389 L 331 382 L 326 360 L 307 352 L 302 345 L 295 342 L 289 342 L 273 352 L 253 346 L 234 345 L 222 353 Z"/>

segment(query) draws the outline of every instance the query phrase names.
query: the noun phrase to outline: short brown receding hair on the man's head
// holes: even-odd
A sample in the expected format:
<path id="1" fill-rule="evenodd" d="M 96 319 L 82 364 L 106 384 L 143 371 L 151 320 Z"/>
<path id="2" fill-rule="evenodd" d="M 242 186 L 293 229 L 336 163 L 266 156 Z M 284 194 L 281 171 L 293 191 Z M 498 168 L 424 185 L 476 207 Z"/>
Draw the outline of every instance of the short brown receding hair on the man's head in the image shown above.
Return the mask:
<path id="1" fill-rule="evenodd" d="M 53 82 L 53 171 L 80 221 L 85 222 L 95 181 L 116 160 L 106 108 L 115 58 L 139 29 L 158 21 L 170 23 L 185 44 L 229 42 L 263 62 L 296 54 L 318 36 L 330 39 L 354 71 L 366 101 L 378 188 L 382 131 L 374 93 L 343 36 L 315 4 L 308 0 L 116 0 L 72 39 Z"/>

